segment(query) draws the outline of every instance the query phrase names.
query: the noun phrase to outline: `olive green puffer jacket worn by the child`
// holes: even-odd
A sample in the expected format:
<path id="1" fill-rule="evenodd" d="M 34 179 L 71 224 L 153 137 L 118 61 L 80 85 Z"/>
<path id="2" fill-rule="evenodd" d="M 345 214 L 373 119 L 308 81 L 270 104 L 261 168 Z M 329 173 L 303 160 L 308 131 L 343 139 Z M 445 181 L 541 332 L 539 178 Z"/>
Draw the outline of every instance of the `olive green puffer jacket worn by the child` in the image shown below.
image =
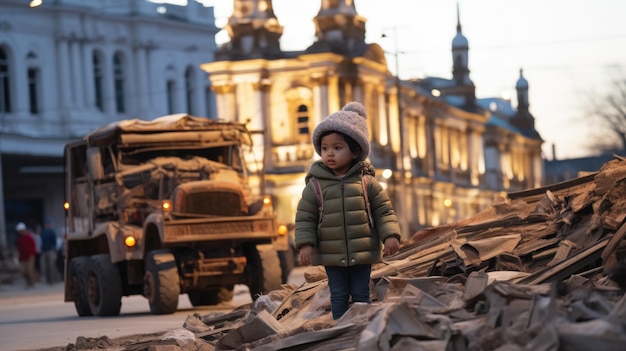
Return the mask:
<path id="1" fill-rule="evenodd" d="M 368 198 L 376 231 L 369 225 L 361 178 L 369 174 Z M 354 266 L 381 259 L 381 243 L 390 236 L 400 240 L 400 225 L 389 196 L 373 177 L 367 162 L 354 165 L 345 176 L 335 176 L 321 161 L 311 165 L 296 213 L 296 247 L 312 245 L 316 264 Z M 322 218 L 315 189 L 309 179 L 319 180 L 324 199 Z"/>

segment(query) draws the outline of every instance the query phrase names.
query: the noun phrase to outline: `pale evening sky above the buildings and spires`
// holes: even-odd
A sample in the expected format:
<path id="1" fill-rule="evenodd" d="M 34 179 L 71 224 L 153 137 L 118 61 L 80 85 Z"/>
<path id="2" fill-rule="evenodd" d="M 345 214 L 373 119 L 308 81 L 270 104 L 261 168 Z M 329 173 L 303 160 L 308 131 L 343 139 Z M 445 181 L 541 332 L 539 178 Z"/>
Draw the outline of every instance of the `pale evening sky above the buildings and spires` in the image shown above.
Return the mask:
<path id="1" fill-rule="evenodd" d="M 194 1 L 194 0 L 191 0 Z M 155 0 L 155 2 L 162 2 Z M 167 2 L 185 3 L 186 0 Z M 213 6 L 218 27 L 233 0 Z M 530 112 L 547 159 L 591 155 L 605 129 L 589 116 L 589 99 L 602 99 L 611 82 L 626 77 L 624 0 L 354 0 L 367 19 L 366 42 L 387 53 L 389 70 L 402 79 L 452 77 L 457 4 L 469 41 L 470 78 L 476 96 L 506 97 L 517 106 L 520 69 L 529 84 Z M 303 50 L 315 40 L 313 18 L 321 0 L 273 0 L 284 27 L 281 48 Z M 383 37 L 383 34 L 385 37 Z M 224 31 L 216 37 L 228 40 Z"/>

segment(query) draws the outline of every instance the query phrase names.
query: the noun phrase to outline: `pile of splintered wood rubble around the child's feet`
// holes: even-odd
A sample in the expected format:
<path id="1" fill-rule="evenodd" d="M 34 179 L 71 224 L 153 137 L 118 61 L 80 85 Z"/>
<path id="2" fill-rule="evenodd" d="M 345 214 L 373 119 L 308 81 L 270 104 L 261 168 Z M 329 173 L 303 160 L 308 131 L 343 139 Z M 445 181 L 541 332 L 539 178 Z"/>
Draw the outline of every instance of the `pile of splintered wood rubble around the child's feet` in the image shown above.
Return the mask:
<path id="1" fill-rule="evenodd" d="M 354 304 L 337 321 L 316 266 L 302 286 L 284 285 L 229 314 L 189 316 L 181 329 L 192 344 L 179 345 L 623 350 L 625 219 L 626 160 L 616 156 L 596 173 L 508 194 L 475 216 L 415 233 L 373 267 L 372 304 Z"/>

